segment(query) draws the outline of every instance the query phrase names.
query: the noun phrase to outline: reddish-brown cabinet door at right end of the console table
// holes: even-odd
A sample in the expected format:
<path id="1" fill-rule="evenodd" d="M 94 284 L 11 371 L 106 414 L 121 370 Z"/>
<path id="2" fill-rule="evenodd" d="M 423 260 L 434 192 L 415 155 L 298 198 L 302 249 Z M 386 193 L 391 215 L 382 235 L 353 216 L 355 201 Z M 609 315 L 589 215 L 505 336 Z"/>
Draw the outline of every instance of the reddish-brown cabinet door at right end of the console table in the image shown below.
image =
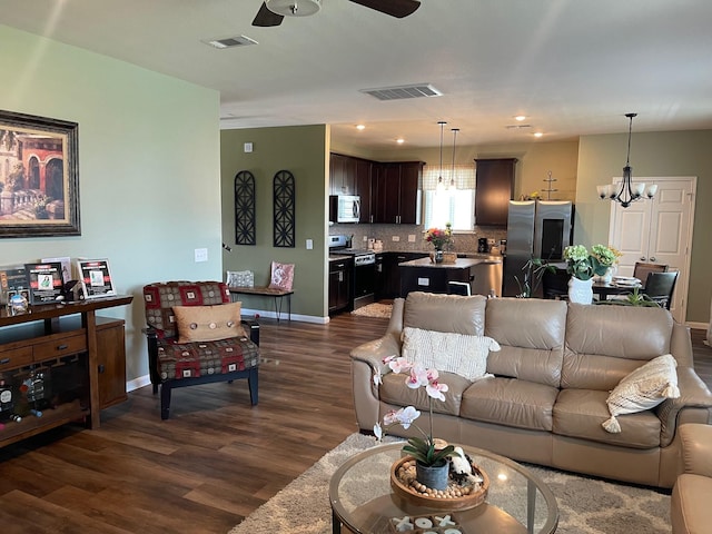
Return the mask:
<path id="1" fill-rule="evenodd" d="M 99 407 L 103 409 L 126 400 L 126 340 L 122 320 L 97 327 L 97 363 Z"/>

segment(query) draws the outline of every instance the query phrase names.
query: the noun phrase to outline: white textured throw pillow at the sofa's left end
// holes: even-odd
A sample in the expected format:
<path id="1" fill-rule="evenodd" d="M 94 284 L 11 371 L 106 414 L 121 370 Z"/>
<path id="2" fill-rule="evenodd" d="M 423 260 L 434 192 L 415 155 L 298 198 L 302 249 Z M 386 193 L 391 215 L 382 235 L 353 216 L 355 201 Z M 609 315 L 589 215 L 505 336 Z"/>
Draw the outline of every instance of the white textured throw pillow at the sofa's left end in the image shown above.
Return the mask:
<path id="1" fill-rule="evenodd" d="M 452 332 L 434 332 L 406 326 L 400 354 L 426 369 L 455 373 L 468 380 L 486 376 L 490 350 L 500 344 L 486 336 L 468 336 Z"/>

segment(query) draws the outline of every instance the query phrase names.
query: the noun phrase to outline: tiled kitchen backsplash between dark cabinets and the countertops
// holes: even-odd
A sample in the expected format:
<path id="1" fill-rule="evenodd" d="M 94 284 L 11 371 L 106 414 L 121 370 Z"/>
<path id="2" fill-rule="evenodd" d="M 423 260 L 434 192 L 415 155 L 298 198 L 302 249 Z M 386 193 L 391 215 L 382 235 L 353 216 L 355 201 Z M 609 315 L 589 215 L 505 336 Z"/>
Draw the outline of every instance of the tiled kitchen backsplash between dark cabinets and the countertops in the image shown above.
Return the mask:
<path id="1" fill-rule="evenodd" d="M 417 253 L 433 250 L 423 238 L 426 228 L 423 225 L 333 225 L 329 227 L 329 235 L 345 235 L 353 237 L 354 248 L 367 248 L 368 239 L 380 239 L 383 249 L 386 251 Z M 501 227 L 475 227 L 474 233 L 453 234 L 453 251 L 476 253 L 477 239 L 486 237 L 494 239 L 495 245 L 500 240 L 507 238 L 506 228 Z"/>

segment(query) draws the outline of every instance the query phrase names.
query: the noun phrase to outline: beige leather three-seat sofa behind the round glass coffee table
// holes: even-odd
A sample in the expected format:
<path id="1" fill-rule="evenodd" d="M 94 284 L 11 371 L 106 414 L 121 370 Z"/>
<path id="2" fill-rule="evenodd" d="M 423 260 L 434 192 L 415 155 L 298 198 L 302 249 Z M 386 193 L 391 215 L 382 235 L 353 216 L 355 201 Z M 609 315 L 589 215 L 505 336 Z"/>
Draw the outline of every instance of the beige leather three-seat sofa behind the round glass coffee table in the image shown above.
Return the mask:
<path id="1" fill-rule="evenodd" d="M 662 308 L 567 305 L 561 300 L 411 293 L 394 301 L 383 337 L 352 350 L 359 428 L 373 432 L 390 409 L 427 409 L 421 389 L 405 386 L 383 358 L 400 355 L 404 326 L 486 335 L 494 378 L 471 383 L 443 373 L 446 402 L 435 402 L 434 434 L 511 458 L 606 478 L 670 488 L 680 471 L 683 423 L 712 423 L 712 394 L 695 374 L 686 327 Z M 622 432 L 602 427 L 609 392 L 645 362 L 672 354 L 679 398 L 619 416 Z M 382 384 L 374 382 L 376 373 Z M 414 435 L 411 427 L 390 434 Z"/>

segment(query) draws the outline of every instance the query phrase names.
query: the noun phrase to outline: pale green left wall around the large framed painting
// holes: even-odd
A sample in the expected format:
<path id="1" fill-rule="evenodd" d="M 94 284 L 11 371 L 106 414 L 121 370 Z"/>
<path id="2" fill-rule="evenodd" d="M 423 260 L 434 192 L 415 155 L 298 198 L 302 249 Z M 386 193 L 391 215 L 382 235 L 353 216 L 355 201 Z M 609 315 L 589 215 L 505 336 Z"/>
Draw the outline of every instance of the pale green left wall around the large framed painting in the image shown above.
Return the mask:
<path id="1" fill-rule="evenodd" d="M 127 320 L 127 377 L 148 373 L 141 288 L 220 279 L 219 95 L 0 26 L 0 109 L 79 123 L 81 236 L 0 238 L 0 265 L 109 258 Z M 208 248 L 207 263 L 194 261 Z"/>

